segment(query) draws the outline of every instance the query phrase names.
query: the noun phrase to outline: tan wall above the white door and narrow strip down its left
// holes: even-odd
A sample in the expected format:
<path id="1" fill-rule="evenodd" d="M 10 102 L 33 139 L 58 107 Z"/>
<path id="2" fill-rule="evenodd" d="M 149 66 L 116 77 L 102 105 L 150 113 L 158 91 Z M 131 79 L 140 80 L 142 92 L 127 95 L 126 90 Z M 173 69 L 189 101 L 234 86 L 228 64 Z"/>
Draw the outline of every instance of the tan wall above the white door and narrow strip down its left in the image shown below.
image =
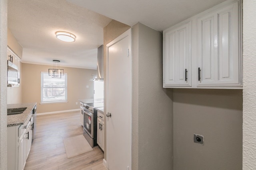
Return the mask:
<path id="1" fill-rule="evenodd" d="M 117 38 L 119 35 L 124 33 L 130 28 L 129 25 L 118 22 L 116 20 L 110 21 L 106 27 L 103 28 L 103 41 L 104 41 L 104 78 L 106 78 L 106 45 L 112 40 Z M 104 81 L 104 96 L 106 96 L 106 81 Z M 104 112 L 106 113 L 106 98 L 104 98 Z M 106 125 L 106 117 L 104 119 Z M 106 128 L 104 129 L 104 135 L 106 137 Z M 106 148 L 106 138 L 104 139 L 104 148 Z M 106 149 L 104 152 L 104 158 L 106 159 Z"/>

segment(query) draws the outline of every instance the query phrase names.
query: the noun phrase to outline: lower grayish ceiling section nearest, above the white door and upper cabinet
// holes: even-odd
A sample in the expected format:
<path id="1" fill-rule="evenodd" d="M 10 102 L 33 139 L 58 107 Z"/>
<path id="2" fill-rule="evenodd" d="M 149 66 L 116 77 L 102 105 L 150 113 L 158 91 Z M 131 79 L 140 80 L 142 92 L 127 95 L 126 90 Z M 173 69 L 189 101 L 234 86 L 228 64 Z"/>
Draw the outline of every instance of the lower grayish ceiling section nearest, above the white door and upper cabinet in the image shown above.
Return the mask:
<path id="1" fill-rule="evenodd" d="M 225 0 L 67 0 L 133 26 L 163 31 Z"/>

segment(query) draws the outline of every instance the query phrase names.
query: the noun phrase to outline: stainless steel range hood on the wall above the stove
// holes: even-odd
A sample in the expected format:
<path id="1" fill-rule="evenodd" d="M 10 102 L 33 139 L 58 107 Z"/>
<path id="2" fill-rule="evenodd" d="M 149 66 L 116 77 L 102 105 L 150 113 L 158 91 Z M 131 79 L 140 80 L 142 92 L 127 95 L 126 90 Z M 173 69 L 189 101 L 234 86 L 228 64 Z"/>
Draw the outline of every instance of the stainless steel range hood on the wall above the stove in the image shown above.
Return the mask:
<path id="1" fill-rule="evenodd" d="M 94 81 L 104 80 L 104 57 L 103 57 L 103 45 L 98 47 L 97 55 L 97 77 L 93 79 Z"/>

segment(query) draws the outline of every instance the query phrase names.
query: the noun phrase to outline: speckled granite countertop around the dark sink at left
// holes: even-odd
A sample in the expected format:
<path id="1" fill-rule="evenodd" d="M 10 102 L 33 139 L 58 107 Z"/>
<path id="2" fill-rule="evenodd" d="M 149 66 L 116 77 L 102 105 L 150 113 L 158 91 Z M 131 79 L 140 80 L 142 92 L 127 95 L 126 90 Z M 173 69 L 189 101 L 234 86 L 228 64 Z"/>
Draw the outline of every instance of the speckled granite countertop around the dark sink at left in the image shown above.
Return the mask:
<path id="1" fill-rule="evenodd" d="M 8 115 L 7 116 L 7 127 L 23 125 L 35 106 L 36 106 L 36 103 L 8 104 L 7 109 L 22 108 L 22 107 L 27 107 L 27 108 L 21 114 Z"/>

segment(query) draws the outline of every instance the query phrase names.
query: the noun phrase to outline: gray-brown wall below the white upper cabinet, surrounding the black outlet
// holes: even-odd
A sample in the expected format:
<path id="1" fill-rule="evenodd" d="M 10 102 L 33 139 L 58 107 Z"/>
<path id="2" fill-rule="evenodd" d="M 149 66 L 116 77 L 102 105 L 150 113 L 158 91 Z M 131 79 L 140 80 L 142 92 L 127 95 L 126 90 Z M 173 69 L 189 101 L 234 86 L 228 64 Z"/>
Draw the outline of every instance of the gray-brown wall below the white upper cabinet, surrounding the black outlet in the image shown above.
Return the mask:
<path id="1" fill-rule="evenodd" d="M 173 100 L 174 170 L 241 170 L 242 90 L 174 89 Z"/>

